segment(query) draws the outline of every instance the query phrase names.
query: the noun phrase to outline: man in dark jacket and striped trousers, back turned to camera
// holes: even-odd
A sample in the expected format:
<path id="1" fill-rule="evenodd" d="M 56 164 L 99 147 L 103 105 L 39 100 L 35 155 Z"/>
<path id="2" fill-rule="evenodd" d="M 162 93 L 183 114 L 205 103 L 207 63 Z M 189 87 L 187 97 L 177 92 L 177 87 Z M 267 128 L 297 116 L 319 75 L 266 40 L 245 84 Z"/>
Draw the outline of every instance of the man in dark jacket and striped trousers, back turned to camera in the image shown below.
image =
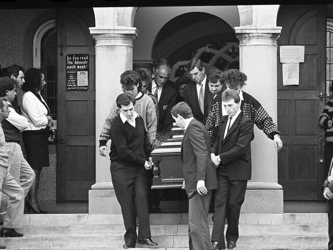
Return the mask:
<path id="1" fill-rule="evenodd" d="M 183 101 L 177 103 L 171 114 L 178 126 L 185 129 L 181 144 L 183 188 L 189 195 L 190 250 L 210 249 L 208 211 L 212 190 L 216 189 L 216 169 L 210 156 L 211 139 L 203 124 L 193 118 L 191 108 Z"/>

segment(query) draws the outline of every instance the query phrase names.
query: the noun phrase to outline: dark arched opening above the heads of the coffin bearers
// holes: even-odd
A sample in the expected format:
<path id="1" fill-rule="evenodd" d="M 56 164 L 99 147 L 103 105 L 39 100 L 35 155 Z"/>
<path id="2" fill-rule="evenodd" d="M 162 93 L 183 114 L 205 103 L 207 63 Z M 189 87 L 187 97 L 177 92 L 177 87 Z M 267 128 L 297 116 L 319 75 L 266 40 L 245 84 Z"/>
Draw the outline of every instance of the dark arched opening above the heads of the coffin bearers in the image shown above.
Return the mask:
<path id="1" fill-rule="evenodd" d="M 204 12 L 181 14 L 158 32 L 152 58 L 165 58 L 172 67 L 171 80 L 183 75 L 192 57 L 206 68 L 239 69 L 238 39 L 234 29 L 221 18 Z"/>

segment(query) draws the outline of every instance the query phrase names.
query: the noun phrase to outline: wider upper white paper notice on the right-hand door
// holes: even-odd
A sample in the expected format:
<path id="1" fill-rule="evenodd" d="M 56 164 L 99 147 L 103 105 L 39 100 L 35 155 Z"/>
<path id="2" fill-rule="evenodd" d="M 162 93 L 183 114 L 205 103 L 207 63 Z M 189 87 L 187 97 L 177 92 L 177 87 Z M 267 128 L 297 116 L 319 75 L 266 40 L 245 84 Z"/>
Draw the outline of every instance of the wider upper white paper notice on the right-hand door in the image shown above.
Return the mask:
<path id="1" fill-rule="evenodd" d="M 280 62 L 283 64 L 304 63 L 304 45 L 280 46 Z"/>

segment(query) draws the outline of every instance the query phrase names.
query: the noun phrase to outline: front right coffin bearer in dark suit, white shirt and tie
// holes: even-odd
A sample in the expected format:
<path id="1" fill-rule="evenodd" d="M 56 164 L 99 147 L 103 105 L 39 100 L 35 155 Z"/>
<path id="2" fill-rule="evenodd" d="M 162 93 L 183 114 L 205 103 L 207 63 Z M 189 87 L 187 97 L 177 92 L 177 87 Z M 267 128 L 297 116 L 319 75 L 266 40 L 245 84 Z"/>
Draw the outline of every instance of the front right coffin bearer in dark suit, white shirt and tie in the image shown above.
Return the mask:
<path id="1" fill-rule="evenodd" d="M 238 92 L 224 91 L 222 101 L 228 115 L 222 116 L 220 132 L 211 154 L 217 166 L 212 249 L 225 249 L 223 232 L 226 211 L 226 247 L 236 247 L 240 209 L 245 199 L 247 180 L 251 179 L 251 141 L 254 139 L 254 123 L 240 110 Z"/>

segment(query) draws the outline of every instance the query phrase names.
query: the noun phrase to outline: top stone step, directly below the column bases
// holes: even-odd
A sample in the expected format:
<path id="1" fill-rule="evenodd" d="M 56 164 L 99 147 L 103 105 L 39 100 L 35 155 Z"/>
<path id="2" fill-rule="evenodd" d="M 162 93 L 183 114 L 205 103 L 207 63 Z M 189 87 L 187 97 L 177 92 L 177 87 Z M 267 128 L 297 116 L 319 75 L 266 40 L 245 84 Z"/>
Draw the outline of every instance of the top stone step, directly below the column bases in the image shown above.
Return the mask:
<path id="1" fill-rule="evenodd" d="M 209 215 L 209 223 L 212 222 Z M 25 225 L 122 225 L 121 214 L 26 214 Z M 188 224 L 189 215 L 150 214 L 150 223 L 162 225 Z M 241 224 L 310 224 L 327 225 L 327 214 L 240 214 Z"/>

